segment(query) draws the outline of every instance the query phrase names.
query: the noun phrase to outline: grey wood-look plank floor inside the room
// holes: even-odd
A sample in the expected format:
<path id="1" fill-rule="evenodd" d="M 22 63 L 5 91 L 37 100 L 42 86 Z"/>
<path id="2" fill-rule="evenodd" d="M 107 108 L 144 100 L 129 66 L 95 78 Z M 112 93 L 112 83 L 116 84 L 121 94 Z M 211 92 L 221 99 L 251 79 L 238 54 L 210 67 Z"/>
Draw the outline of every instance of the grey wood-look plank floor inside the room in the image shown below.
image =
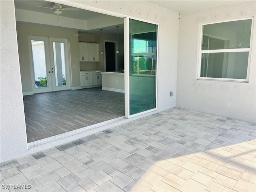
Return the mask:
<path id="1" fill-rule="evenodd" d="M 124 116 L 124 94 L 101 87 L 23 96 L 28 143 Z"/>

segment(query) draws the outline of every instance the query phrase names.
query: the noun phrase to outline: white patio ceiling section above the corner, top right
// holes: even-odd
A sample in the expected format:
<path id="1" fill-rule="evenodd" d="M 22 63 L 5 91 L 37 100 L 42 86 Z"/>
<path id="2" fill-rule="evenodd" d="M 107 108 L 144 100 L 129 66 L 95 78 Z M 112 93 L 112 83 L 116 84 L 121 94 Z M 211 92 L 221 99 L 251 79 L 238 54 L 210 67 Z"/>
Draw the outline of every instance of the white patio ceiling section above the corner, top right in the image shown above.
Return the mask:
<path id="1" fill-rule="evenodd" d="M 147 0 L 147 2 L 176 12 L 187 12 L 241 1 L 242 0 Z"/>

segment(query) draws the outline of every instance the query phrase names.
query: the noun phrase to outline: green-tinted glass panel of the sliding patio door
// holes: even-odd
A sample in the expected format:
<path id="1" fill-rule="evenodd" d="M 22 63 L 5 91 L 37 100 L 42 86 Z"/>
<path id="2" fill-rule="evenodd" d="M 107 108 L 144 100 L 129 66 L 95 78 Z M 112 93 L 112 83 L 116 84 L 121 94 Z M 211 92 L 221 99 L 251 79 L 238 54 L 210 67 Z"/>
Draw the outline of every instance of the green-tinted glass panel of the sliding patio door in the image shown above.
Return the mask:
<path id="1" fill-rule="evenodd" d="M 156 108 L 157 25 L 130 22 L 130 115 Z"/>

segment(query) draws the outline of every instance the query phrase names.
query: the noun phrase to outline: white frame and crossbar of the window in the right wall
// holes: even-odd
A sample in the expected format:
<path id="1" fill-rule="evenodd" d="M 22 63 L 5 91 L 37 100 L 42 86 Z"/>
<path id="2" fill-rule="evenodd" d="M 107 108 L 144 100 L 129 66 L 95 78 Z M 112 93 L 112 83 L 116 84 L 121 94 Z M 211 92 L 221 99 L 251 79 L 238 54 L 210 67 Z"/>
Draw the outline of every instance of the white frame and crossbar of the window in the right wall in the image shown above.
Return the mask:
<path id="1" fill-rule="evenodd" d="M 224 22 L 231 22 L 231 21 L 240 21 L 240 20 L 248 20 L 252 19 L 252 26 L 251 26 L 251 36 L 250 36 L 250 48 L 235 48 L 235 49 L 216 49 L 216 50 L 202 50 L 202 40 L 203 40 L 203 26 L 208 24 L 216 24 L 216 23 L 224 23 Z M 253 27 L 254 27 L 254 17 L 250 18 L 240 18 L 234 20 L 226 20 L 220 22 L 210 22 L 210 23 L 203 23 L 200 25 L 200 41 L 199 41 L 199 57 L 198 57 L 198 71 L 197 71 L 197 79 L 198 80 L 220 80 L 220 81 L 238 81 L 238 82 L 249 82 L 249 72 L 250 72 L 250 58 L 251 58 L 251 50 L 252 50 L 252 34 L 253 34 Z M 207 35 L 207 34 L 206 34 Z M 209 36 L 209 35 L 208 35 Z M 210 36 L 209 36 L 210 37 Z M 220 39 L 220 38 L 219 38 Z M 248 52 L 248 64 L 247 64 L 247 72 L 246 72 L 246 79 L 235 79 L 235 78 L 214 78 L 214 77 L 201 77 L 201 60 L 203 53 L 226 53 L 226 52 Z"/>

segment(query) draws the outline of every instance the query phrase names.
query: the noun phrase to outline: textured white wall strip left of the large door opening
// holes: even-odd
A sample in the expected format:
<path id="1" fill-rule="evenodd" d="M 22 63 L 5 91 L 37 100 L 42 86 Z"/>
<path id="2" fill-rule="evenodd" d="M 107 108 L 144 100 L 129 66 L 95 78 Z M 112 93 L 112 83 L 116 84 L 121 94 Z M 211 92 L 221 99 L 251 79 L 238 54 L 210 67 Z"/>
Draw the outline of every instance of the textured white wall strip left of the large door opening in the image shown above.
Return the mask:
<path id="1" fill-rule="evenodd" d="M 20 81 L 14 2 L 0 1 L 0 161 L 26 154 L 27 137 Z"/>

